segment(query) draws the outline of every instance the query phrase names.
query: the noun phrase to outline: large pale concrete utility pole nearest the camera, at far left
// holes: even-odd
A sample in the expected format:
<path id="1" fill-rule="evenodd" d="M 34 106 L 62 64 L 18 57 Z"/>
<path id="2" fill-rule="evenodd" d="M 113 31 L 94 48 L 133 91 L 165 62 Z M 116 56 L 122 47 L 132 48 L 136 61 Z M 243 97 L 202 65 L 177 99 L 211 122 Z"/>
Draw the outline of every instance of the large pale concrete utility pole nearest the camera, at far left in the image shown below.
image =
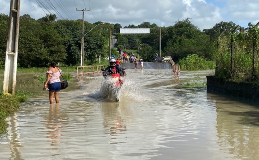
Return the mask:
<path id="1" fill-rule="evenodd" d="M 8 38 L 6 45 L 5 73 L 3 94 L 15 94 L 18 39 L 20 22 L 20 0 L 10 1 L 10 14 L 8 24 Z"/>

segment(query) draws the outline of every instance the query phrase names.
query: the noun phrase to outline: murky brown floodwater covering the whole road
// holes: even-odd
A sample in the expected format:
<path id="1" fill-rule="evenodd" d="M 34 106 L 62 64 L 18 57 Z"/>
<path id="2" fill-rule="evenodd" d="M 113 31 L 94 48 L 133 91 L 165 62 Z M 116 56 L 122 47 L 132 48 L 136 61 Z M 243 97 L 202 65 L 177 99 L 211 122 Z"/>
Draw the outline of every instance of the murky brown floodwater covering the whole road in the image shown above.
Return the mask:
<path id="1" fill-rule="evenodd" d="M 182 71 L 180 79 L 168 68 L 125 71 L 119 102 L 104 96 L 97 74 L 71 80 L 54 105 L 43 85 L 23 84 L 33 75 L 18 75 L 17 88 L 39 94 L 6 119 L 0 159 L 259 159 L 255 104 L 184 87 L 212 70 Z"/>

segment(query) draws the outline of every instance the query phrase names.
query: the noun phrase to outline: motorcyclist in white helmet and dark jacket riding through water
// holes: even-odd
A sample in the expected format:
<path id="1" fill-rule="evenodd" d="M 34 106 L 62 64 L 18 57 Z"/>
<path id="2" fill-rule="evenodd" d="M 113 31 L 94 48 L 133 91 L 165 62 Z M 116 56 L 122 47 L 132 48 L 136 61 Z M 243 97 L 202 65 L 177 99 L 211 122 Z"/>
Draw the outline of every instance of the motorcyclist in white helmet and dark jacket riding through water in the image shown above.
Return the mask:
<path id="1" fill-rule="evenodd" d="M 103 71 L 103 76 L 111 76 L 112 74 L 120 74 L 120 76 L 125 76 L 127 75 L 125 70 L 123 70 L 121 67 L 116 66 L 116 59 L 115 58 L 110 58 L 109 60 L 110 65 L 105 68 Z"/>

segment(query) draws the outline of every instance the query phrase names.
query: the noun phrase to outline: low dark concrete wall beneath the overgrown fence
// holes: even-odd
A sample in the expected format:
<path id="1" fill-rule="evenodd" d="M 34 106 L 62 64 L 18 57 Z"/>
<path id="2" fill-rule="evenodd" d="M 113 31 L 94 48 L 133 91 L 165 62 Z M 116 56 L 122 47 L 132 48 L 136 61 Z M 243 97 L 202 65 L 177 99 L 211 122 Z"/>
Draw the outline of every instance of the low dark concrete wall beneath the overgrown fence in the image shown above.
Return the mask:
<path id="1" fill-rule="evenodd" d="M 252 83 L 227 82 L 207 76 L 207 91 L 259 102 L 259 86 Z"/>

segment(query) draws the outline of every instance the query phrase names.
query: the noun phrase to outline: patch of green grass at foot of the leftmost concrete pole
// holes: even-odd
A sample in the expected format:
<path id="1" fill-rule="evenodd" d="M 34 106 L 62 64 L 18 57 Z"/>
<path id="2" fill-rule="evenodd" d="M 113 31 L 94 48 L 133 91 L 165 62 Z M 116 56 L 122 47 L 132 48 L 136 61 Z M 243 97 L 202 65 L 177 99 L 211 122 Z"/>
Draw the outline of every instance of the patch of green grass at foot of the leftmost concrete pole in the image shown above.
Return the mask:
<path id="1" fill-rule="evenodd" d="M 16 90 L 15 96 L 0 94 L 0 134 L 5 134 L 8 127 L 5 119 L 14 111 L 19 109 L 19 104 L 25 102 L 30 96 L 35 95 L 34 92 L 25 90 Z"/>

